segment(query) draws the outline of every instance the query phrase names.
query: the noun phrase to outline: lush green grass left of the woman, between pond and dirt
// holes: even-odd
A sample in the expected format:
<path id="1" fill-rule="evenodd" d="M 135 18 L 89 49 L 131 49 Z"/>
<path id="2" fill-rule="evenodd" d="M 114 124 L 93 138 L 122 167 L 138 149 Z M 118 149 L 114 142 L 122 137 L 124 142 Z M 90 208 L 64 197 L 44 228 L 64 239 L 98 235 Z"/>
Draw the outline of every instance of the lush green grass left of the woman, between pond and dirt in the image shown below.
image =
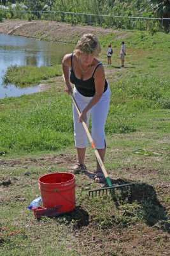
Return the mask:
<path id="1" fill-rule="evenodd" d="M 4 108 L 1 104 L 2 151 L 59 150 L 73 143 L 71 102 L 64 107 L 68 102 L 67 95 L 62 93 L 57 97 L 55 93 L 46 92 L 4 102 L 7 106 L 14 104 L 15 108 Z"/>

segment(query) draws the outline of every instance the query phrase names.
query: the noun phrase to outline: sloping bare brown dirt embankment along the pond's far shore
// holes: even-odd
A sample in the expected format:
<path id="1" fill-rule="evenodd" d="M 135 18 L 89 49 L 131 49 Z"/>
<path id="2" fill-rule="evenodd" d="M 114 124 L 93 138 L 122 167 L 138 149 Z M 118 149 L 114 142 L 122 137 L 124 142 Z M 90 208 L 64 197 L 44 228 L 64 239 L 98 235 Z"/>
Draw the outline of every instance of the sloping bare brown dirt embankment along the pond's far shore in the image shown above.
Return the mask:
<path id="1" fill-rule="evenodd" d="M 31 22 L 27 20 L 3 20 L 0 23 L 0 33 L 72 44 L 75 44 L 83 33 L 94 33 L 97 36 L 114 33 L 117 38 L 120 38 L 120 32 L 113 29 L 93 26 L 71 26 L 71 24 L 46 20 Z M 121 38 L 124 36 L 127 36 L 127 34 L 121 36 Z"/>

